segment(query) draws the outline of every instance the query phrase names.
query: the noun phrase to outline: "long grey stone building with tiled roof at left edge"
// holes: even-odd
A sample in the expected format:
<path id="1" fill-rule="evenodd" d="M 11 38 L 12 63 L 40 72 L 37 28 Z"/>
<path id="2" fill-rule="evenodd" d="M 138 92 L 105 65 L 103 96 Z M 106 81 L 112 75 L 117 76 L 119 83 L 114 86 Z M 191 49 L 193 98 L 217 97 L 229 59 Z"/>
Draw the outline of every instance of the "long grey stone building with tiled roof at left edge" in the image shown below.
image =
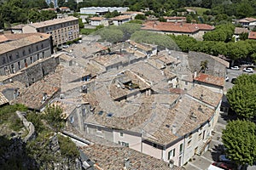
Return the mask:
<path id="1" fill-rule="evenodd" d="M 53 53 L 51 37 L 44 33 L 5 35 L 0 43 L 0 75 L 13 74 Z"/>

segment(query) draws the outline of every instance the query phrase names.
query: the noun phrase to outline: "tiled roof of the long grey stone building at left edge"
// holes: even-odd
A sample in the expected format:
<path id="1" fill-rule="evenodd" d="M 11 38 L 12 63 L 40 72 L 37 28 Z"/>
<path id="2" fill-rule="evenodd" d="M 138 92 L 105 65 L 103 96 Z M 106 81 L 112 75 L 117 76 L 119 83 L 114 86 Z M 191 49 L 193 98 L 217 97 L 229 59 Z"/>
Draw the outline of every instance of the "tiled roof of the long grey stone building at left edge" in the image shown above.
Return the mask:
<path id="1" fill-rule="evenodd" d="M 26 46 L 32 45 L 36 42 L 44 41 L 46 39 L 49 39 L 49 37 L 50 37 L 49 34 L 44 34 L 44 33 L 29 33 L 29 34 L 23 34 L 22 36 L 24 36 L 24 37 L 15 38 L 15 37 L 20 37 L 15 34 L 14 36 L 10 36 L 10 37 L 13 37 L 13 39 L 15 39 L 14 41 L 0 43 L 0 54 L 5 54 L 5 53 L 15 50 L 17 48 L 26 47 Z M 10 38 L 8 38 L 8 39 L 10 39 Z"/>

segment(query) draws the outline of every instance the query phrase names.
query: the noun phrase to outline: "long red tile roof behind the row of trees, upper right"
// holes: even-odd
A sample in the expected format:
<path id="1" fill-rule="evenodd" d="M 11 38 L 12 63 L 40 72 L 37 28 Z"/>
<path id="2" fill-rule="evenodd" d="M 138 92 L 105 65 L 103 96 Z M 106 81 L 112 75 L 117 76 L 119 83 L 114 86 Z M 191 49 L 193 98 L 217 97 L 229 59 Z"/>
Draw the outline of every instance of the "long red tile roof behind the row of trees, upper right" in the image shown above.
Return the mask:
<path id="1" fill-rule="evenodd" d="M 148 21 L 143 25 L 143 30 L 154 31 L 171 31 L 171 32 L 185 32 L 193 33 L 196 31 L 212 31 L 213 26 L 207 24 L 189 24 L 189 23 L 172 23 L 172 22 L 154 22 Z"/>

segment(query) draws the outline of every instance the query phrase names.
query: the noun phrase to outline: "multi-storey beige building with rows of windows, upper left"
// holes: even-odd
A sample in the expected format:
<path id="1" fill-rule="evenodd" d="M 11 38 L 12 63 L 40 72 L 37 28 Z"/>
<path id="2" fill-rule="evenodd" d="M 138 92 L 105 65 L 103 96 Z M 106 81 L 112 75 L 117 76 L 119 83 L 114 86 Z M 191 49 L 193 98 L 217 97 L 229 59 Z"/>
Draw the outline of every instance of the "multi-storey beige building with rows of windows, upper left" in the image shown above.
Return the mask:
<path id="1" fill-rule="evenodd" d="M 22 28 L 24 33 L 42 32 L 52 36 L 53 44 L 61 46 L 79 38 L 79 19 L 73 16 L 37 22 Z"/>

